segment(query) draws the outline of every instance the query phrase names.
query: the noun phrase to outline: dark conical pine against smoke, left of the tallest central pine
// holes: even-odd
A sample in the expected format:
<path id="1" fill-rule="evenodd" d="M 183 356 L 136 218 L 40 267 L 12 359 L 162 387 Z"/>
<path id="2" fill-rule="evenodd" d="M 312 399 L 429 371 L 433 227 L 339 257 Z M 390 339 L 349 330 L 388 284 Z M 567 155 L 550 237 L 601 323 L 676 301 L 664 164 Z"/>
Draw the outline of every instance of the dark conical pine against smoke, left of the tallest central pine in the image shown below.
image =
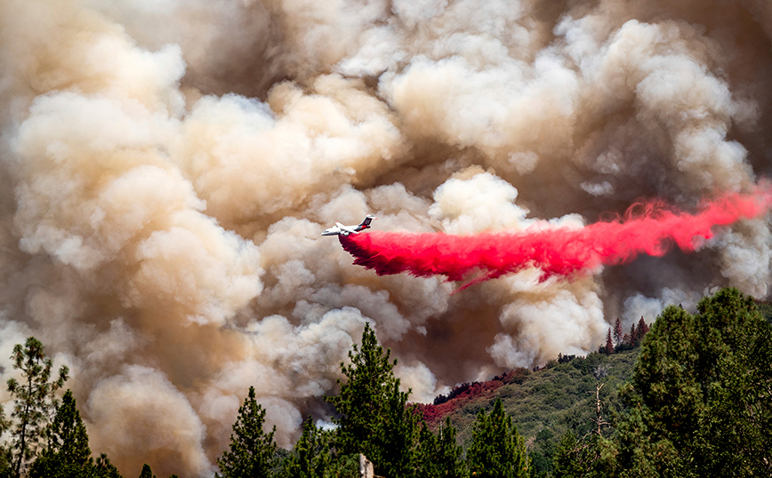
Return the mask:
<path id="1" fill-rule="evenodd" d="M 265 410 L 258 404 L 254 387 L 249 387 L 249 394 L 244 405 L 238 409 L 238 418 L 233 424 L 230 435 L 230 448 L 217 458 L 223 478 L 261 478 L 270 476 L 277 445 L 273 441 L 276 426 L 266 434 L 262 426 L 265 422 Z"/>

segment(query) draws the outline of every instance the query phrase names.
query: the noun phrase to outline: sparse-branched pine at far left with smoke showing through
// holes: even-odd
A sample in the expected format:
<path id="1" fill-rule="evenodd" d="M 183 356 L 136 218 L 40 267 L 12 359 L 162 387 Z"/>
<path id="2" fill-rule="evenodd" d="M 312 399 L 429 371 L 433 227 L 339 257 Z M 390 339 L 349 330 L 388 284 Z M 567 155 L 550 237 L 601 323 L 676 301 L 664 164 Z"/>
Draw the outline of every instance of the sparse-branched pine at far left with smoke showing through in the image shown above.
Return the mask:
<path id="1" fill-rule="evenodd" d="M 13 368 L 21 371 L 21 381 L 8 380 L 13 399 L 12 462 L 13 476 L 19 477 L 23 466 L 36 457 L 37 448 L 56 409 L 55 394 L 68 378 L 62 366 L 59 377 L 52 380 L 52 361 L 45 356 L 43 344 L 34 337 L 24 347 L 17 344 L 11 355 Z"/>

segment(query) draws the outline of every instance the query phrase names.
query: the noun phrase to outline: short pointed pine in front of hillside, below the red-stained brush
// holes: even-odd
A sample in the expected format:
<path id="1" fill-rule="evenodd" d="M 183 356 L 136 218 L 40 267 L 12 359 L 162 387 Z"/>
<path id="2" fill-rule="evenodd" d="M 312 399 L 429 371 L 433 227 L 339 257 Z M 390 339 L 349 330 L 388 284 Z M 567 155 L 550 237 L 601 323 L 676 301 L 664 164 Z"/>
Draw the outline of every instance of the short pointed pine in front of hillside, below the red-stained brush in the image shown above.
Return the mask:
<path id="1" fill-rule="evenodd" d="M 523 437 L 512 419 L 496 400 L 487 415 L 480 410 L 466 453 L 470 472 L 478 477 L 524 478 L 529 476 L 530 460 Z"/>

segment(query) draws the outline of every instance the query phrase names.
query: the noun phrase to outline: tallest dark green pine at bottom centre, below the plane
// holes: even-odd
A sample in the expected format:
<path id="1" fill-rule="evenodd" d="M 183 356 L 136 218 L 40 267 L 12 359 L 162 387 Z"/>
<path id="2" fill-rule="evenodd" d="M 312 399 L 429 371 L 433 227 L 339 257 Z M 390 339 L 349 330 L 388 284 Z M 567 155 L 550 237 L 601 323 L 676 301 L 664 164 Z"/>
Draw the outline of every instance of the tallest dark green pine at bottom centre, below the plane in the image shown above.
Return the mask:
<path id="1" fill-rule="evenodd" d="M 363 453 L 375 466 L 375 474 L 406 476 L 413 460 L 416 418 L 406 407 L 407 393 L 399 391 L 399 380 L 369 323 L 360 347 L 349 352 L 350 364 L 341 364 L 341 394 L 326 397 L 339 414 L 335 446 L 342 455 Z"/>

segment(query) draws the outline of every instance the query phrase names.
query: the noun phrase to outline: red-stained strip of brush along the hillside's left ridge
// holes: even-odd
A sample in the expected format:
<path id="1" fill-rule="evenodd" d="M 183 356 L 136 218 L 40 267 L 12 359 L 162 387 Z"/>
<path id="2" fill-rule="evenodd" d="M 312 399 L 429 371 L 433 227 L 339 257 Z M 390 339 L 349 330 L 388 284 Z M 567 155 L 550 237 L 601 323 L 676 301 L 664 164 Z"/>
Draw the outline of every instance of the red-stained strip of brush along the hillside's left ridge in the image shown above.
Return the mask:
<path id="1" fill-rule="evenodd" d="M 467 382 L 453 387 L 447 395 L 438 395 L 433 404 L 418 403 L 416 411 L 422 414 L 424 420 L 432 424 L 454 410 L 460 409 L 464 404 L 483 395 L 492 395 L 497 388 L 511 383 L 522 383 L 530 370 L 515 369 L 497 375 L 487 382 Z"/>

